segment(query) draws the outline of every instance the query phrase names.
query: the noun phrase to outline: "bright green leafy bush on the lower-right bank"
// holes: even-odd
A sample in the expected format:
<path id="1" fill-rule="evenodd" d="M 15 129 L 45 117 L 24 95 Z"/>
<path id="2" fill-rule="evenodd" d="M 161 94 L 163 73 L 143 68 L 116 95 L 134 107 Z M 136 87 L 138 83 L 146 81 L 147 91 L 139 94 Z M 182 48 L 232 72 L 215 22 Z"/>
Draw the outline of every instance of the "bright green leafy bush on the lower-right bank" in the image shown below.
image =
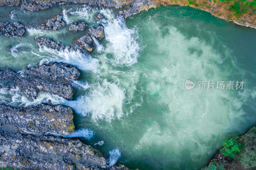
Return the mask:
<path id="1" fill-rule="evenodd" d="M 243 148 L 242 144 L 236 140 L 237 138 L 238 136 L 233 134 L 233 138 L 227 138 L 222 142 L 224 148 L 220 149 L 220 152 L 223 153 L 223 155 L 228 156 L 232 160 L 235 159 L 236 153 L 241 152 Z"/>

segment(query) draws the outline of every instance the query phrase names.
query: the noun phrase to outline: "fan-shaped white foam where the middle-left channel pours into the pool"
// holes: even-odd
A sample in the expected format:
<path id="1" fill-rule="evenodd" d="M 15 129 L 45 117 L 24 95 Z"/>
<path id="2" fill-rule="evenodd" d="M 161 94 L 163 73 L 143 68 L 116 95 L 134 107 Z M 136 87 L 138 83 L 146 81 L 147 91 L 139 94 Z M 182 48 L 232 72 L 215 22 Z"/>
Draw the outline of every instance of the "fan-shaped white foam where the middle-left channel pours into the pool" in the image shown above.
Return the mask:
<path id="1" fill-rule="evenodd" d="M 108 82 L 107 79 L 104 79 L 91 88 L 87 96 L 82 96 L 74 102 L 69 101 L 65 104 L 83 116 L 91 114 L 93 120 L 111 121 L 115 118 L 120 119 L 124 115 L 122 107 L 125 100 L 125 90 L 119 87 L 116 82 Z"/>

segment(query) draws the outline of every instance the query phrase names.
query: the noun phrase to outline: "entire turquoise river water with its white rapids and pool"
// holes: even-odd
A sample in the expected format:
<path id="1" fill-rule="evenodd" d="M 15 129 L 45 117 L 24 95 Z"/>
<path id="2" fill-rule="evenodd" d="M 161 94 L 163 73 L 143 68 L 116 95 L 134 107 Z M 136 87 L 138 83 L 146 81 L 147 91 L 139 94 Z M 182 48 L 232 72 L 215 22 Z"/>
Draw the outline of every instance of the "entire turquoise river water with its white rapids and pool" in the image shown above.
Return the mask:
<path id="1" fill-rule="evenodd" d="M 85 32 L 27 29 L 25 37 L 0 37 L 0 69 L 22 71 L 51 61 L 76 65 L 81 78 L 74 82 L 75 99 L 40 93 L 30 100 L 17 90 L 0 91 L 0 102 L 36 105 L 45 100 L 75 111 L 76 134 L 95 145 L 111 162 L 136 169 L 201 169 L 221 142 L 242 135 L 256 124 L 256 30 L 235 26 L 210 13 L 190 7 L 149 9 L 129 18 L 111 10 L 86 6 L 56 7 L 39 12 L 0 9 L 1 21 L 26 26 L 64 14 L 69 26 L 80 19 L 97 26 L 105 37 L 90 55 L 60 52 L 35 43 L 36 36 L 51 37 L 64 45 Z M 70 12 L 71 15 L 67 15 Z M 195 87 L 185 89 L 185 81 Z M 243 89 L 197 89 L 197 81 L 244 81 Z M 86 129 L 85 129 L 86 128 Z M 79 133 L 78 133 L 79 132 Z"/>

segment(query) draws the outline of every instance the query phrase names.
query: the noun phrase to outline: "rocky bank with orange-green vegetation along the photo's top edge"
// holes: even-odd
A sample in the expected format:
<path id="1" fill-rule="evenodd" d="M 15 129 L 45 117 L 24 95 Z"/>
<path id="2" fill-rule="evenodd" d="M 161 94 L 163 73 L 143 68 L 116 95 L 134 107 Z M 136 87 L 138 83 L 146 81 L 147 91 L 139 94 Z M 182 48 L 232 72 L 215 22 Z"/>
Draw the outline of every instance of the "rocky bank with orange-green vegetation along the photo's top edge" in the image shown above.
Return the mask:
<path id="1" fill-rule="evenodd" d="M 55 4 L 88 4 L 97 8 L 116 8 L 118 13 L 125 18 L 140 11 L 148 10 L 159 5 L 181 5 L 198 8 L 212 15 L 230 21 L 232 23 L 256 28 L 256 7 L 251 1 L 205 1 L 205 0 L 0 0 L 0 6 L 20 6 L 29 11 L 39 11 L 50 8 Z M 54 18 L 53 18 L 54 19 Z M 56 20 L 56 18 L 55 18 Z M 60 21 L 61 22 L 61 21 Z M 63 22 L 63 21 L 62 21 Z M 64 25 L 64 22 L 63 24 Z M 54 26 L 49 26 L 53 29 Z M 50 29 L 48 26 L 46 29 Z M 55 27 L 57 29 L 57 27 Z"/>

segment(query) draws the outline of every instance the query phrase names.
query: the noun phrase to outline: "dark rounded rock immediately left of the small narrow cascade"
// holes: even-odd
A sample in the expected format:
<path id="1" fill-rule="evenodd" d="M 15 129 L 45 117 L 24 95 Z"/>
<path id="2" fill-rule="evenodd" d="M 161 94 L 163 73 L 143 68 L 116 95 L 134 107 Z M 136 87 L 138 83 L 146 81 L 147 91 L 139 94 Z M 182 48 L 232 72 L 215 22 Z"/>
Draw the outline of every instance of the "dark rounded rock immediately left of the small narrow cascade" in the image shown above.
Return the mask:
<path id="1" fill-rule="evenodd" d="M 81 52 L 91 53 L 95 47 L 93 45 L 93 39 L 89 34 L 85 34 L 83 37 L 77 40 L 76 49 Z"/>

